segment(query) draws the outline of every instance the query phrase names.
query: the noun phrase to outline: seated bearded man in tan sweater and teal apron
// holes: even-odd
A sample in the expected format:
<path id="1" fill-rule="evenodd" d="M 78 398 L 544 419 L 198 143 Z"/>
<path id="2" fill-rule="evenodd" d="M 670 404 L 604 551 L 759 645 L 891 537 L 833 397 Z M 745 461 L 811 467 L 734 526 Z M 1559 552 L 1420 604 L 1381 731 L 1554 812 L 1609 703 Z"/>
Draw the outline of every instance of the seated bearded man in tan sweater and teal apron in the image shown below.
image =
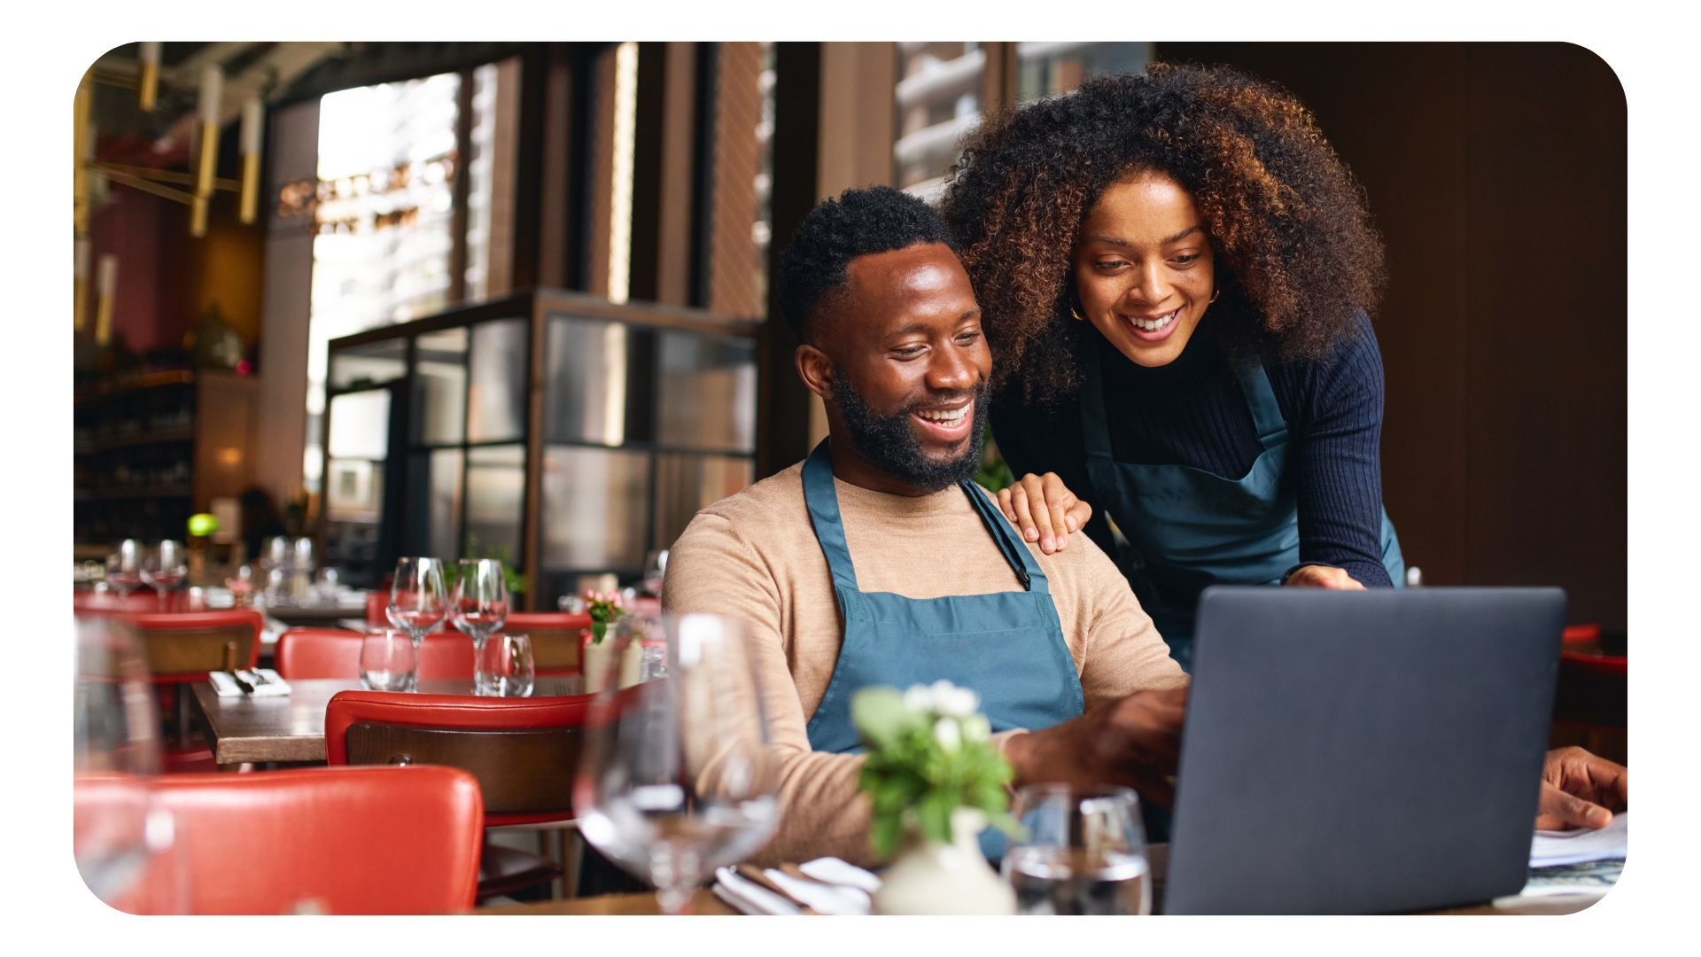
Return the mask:
<path id="1" fill-rule="evenodd" d="M 777 283 L 830 438 L 699 513 L 663 587 L 670 611 L 754 628 L 782 756 L 760 858 L 873 863 L 849 710 L 866 685 L 970 686 L 1017 785 L 1126 783 L 1167 805 L 1186 674 L 1104 552 L 1031 550 L 973 485 L 992 354 L 942 220 L 845 191 L 805 218 Z"/>

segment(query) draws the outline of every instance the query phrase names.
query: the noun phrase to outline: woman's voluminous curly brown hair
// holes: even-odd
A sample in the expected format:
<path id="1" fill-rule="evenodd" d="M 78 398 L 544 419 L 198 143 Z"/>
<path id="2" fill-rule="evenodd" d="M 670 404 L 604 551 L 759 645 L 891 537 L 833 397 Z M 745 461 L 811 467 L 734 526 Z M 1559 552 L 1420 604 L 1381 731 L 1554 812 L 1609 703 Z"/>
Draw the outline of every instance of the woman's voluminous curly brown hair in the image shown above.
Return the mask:
<path id="1" fill-rule="evenodd" d="M 1077 233 L 1099 194 L 1162 172 L 1215 247 L 1228 346 L 1315 358 L 1383 288 L 1383 245 L 1347 167 L 1288 92 L 1232 68 L 1155 63 L 988 119 L 953 169 L 944 216 L 975 283 L 997 383 L 1048 402 L 1078 387 Z"/>

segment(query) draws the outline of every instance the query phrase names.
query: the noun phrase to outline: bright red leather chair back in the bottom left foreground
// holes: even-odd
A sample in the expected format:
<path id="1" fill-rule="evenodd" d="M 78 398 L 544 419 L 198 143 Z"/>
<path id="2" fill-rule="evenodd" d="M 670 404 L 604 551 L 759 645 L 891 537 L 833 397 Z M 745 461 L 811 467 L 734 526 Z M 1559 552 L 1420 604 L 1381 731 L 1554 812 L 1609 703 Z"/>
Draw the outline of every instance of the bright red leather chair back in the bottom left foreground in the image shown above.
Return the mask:
<path id="1" fill-rule="evenodd" d="M 75 785 L 75 829 L 151 787 L 172 848 L 119 901 L 129 913 L 437 914 L 475 903 L 483 799 L 456 768 L 308 768 Z M 184 880 L 174 882 L 174 875 Z"/>

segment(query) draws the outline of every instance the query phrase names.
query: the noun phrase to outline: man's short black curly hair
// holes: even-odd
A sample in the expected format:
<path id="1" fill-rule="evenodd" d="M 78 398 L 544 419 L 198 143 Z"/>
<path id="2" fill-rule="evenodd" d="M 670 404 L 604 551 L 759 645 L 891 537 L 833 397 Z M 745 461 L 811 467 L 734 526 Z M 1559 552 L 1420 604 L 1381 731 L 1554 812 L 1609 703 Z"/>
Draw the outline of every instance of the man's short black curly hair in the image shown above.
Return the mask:
<path id="1" fill-rule="evenodd" d="M 845 267 L 859 255 L 942 242 L 956 250 L 951 228 L 922 199 L 890 186 L 847 189 L 798 225 L 779 257 L 779 312 L 811 342 L 810 320 L 822 301 L 844 288 Z"/>

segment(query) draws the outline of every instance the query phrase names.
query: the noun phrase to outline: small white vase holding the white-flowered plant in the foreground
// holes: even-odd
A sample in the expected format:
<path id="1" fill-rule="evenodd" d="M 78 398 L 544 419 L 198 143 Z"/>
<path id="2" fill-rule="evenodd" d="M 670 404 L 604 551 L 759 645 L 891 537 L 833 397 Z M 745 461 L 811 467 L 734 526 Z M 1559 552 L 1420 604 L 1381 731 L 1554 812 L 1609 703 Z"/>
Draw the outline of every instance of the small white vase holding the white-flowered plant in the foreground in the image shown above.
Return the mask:
<path id="1" fill-rule="evenodd" d="M 1015 891 L 987 863 L 980 833 L 987 816 L 951 812 L 951 843 L 912 829 L 874 892 L 876 914 L 1014 914 Z"/>

